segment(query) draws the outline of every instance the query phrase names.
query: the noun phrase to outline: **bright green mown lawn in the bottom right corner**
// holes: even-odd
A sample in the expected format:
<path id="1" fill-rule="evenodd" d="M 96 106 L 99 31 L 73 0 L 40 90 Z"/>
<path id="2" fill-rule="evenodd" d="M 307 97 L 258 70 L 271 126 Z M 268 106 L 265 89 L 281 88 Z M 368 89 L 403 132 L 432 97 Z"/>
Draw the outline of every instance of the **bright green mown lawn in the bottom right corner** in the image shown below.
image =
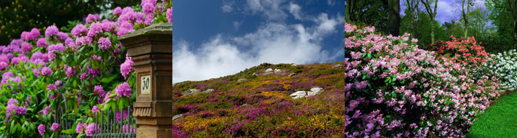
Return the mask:
<path id="1" fill-rule="evenodd" d="M 476 121 L 467 138 L 517 137 L 517 92 L 499 99 Z"/>

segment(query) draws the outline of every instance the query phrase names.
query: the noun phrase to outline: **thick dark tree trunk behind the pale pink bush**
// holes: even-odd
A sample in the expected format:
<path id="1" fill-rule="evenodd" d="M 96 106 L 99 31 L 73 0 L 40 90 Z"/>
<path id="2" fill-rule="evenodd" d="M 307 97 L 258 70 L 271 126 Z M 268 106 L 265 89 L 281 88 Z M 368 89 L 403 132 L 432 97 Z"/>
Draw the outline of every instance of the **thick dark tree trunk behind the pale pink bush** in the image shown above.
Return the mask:
<path id="1" fill-rule="evenodd" d="M 401 26 L 400 0 L 389 0 L 388 7 L 389 7 L 389 19 L 388 19 L 389 34 L 392 34 L 393 36 L 397 37 L 399 34 L 399 31 L 400 31 L 399 28 Z"/>

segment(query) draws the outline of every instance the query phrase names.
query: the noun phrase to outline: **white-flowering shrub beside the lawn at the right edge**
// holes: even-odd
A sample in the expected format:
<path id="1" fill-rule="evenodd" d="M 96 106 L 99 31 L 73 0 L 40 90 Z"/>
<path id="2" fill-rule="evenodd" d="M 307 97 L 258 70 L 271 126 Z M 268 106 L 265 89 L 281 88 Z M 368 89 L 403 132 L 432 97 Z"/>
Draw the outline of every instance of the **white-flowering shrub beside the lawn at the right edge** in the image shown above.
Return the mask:
<path id="1" fill-rule="evenodd" d="M 496 76 L 504 89 L 517 88 L 517 50 L 499 52 L 490 55 L 491 59 L 481 68 L 472 71 L 472 75 L 480 78 L 483 74 Z"/>

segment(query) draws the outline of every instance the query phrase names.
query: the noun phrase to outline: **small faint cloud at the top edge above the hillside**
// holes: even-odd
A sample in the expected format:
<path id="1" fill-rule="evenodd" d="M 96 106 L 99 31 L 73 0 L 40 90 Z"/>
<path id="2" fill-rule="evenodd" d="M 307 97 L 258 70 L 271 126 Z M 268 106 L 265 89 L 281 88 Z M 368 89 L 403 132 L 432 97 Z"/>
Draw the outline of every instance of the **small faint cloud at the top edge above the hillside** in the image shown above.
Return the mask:
<path id="1" fill-rule="evenodd" d="M 252 14 L 263 14 L 268 20 L 283 20 L 287 14 L 281 9 L 284 0 L 247 0 L 247 10 Z"/>

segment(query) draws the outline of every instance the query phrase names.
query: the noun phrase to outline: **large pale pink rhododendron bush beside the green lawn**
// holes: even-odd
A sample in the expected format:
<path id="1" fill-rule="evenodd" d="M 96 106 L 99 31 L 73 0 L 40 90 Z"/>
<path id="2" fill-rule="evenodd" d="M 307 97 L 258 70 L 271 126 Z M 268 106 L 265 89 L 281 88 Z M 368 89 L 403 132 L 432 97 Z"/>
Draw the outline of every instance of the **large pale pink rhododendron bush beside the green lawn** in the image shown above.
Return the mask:
<path id="1" fill-rule="evenodd" d="M 417 39 L 345 23 L 345 132 L 349 137 L 464 137 L 498 96 L 496 78 L 474 82 Z"/>

